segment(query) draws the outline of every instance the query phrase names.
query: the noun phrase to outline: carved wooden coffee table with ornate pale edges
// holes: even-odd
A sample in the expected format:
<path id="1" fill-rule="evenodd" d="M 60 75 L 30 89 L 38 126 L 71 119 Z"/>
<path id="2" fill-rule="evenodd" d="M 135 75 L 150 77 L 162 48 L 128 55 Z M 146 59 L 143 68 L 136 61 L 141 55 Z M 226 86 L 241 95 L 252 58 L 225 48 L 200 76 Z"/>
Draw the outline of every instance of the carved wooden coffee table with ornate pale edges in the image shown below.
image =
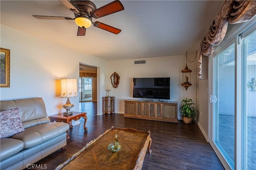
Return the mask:
<path id="1" fill-rule="evenodd" d="M 121 145 L 118 152 L 108 150 L 108 145 L 115 142 L 115 134 Z M 111 127 L 56 170 L 140 170 L 147 150 L 151 153 L 150 146 L 150 131 L 146 133 L 132 128 Z"/>

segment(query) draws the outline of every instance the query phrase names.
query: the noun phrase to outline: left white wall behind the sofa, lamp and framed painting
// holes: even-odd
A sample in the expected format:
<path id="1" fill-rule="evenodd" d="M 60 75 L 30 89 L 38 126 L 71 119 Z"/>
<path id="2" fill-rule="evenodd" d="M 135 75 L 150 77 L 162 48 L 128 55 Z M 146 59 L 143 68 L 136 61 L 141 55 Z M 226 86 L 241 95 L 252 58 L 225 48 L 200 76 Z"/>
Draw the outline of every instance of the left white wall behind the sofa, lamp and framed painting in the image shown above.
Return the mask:
<path id="1" fill-rule="evenodd" d="M 105 95 L 107 62 L 1 25 L 1 47 L 10 49 L 10 88 L 0 88 L 0 100 L 42 97 L 48 115 L 65 111 L 66 98 L 56 94 L 60 78 L 79 78 L 79 63 L 98 67 L 98 98 Z M 79 111 L 79 97 L 70 98 Z M 98 100 L 98 114 L 102 114 Z"/>

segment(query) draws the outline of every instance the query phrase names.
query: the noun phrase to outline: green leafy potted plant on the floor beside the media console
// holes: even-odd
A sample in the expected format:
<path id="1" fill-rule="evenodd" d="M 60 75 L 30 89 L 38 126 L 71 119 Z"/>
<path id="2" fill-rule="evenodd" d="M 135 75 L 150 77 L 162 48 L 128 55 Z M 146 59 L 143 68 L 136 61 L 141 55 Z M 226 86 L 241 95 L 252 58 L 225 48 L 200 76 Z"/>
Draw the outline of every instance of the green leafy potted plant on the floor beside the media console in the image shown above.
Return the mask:
<path id="1" fill-rule="evenodd" d="M 192 121 L 192 118 L 196 116 L 197 109 L 193 107 L 194 103 L 192 102 L 192 99 L 184 99 L 181 101 L 183 104 L 180 107 L 180 113 L 182 114 L 183 117 L 183 122 L 186 124 L 190 124 Z"/>

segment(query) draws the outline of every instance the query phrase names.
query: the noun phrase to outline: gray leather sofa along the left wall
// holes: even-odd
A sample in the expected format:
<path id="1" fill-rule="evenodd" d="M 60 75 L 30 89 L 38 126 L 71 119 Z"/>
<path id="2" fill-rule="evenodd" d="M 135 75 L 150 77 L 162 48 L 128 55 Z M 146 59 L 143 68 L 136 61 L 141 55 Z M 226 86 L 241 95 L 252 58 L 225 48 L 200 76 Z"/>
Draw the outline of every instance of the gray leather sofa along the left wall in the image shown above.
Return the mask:
<path id="1" fill-rule="evenodd" d="M 24 169 L 66 146 L 67 123 L 50 122 L 42 98 L 0 101 L 0 110 L 19 109 L 25 131 L 0 139 L 0 169 Z"/>

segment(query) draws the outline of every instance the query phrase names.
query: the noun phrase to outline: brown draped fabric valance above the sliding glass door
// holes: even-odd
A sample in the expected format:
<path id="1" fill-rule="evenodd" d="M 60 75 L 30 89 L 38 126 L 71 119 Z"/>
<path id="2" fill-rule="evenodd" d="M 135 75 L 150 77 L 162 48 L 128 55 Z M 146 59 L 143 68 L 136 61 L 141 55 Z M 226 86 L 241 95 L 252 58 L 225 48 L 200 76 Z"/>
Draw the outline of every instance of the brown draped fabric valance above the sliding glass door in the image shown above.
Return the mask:
<path id="1" fill-rule="evenodd" d="M 255 0 L 226 0 L 210 25 L 208 33 L 204 36 L 200 43 L 200 53 L 198 61 L 198 77 L 200 79 L 207 78 L 207 70 L 202 68 L 206 66 L 207 60 L 203 57 L 212 55 L 214 47 L 224 39 L 228 28 L 228 23 L 241 23 L 252 19 L 256 15 Z M 203 71 L 205 70 L 205 71 Z"/>

